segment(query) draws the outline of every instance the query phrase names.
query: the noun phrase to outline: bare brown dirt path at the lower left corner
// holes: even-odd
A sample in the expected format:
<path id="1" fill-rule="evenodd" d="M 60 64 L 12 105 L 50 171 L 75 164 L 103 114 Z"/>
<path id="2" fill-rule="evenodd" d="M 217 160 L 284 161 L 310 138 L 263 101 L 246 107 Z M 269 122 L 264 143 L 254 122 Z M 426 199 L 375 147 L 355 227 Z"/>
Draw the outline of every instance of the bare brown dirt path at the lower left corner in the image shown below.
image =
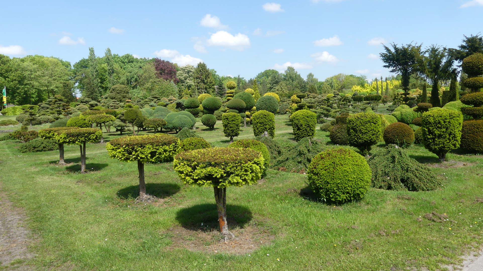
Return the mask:
<path id="1" fill-rule="evenodd" d="M 28 246 L 33 240 L 30 231 L 25 226 L 26 217 L 20 208 L 15 208 L 7 196 L 0 192 L 0 266 L 9 266 L 12 270 L 31 270 L 28 266 L 11 264 L 35 255 L 28 252 Z M 20 260 L 17 260 L 20 259 Z M 7 269 L 10 270 L 10 269 Z"/>

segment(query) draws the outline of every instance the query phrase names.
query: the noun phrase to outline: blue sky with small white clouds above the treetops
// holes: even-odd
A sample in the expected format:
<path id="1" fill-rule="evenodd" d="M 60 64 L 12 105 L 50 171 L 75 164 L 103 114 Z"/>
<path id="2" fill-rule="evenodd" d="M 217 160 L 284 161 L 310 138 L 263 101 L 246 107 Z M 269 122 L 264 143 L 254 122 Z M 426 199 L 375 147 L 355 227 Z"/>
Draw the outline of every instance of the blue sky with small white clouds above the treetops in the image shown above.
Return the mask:
<path id="1" fill-rule="evenodd" d="M 388 76 L 381 42 L 455 48 L 483 30 L 483 0 L 5 1 L 0 54 L 202 60 L 220 75 L 253 78 L 292 65 L 319 80 Z"/>

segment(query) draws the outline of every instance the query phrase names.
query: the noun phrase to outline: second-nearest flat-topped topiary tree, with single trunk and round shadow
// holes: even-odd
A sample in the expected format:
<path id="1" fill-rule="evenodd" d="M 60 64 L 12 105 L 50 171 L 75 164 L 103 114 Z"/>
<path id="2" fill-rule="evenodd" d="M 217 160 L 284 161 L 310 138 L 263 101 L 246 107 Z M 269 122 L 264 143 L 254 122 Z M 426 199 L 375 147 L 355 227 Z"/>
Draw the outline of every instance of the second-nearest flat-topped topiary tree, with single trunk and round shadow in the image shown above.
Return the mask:
<path id="1" fill-rule="evenodd" d="M 170 162 L 181 151 L 180 140 L 165 134 L 115 138 L 106 144 L 106 149 L 111 158 L 124 162 L 138 162 L 139 201 L 156 199 L 146 193 L 144 163 Z"/>

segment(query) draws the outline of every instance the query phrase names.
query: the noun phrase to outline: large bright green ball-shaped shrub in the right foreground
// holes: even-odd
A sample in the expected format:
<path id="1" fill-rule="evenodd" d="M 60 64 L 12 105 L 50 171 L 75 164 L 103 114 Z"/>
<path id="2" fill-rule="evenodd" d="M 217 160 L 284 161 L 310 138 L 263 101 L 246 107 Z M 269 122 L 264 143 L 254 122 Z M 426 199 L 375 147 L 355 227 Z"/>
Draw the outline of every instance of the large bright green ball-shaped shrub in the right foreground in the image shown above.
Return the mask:
<path id="1" fill-rule="evenodd" d="M 329 149 L 313 158 L 307 176 L 314 192 L 328 201 L 359 200 L 369 190 L 371 171 L 366 159 L 351 149 Z"/>

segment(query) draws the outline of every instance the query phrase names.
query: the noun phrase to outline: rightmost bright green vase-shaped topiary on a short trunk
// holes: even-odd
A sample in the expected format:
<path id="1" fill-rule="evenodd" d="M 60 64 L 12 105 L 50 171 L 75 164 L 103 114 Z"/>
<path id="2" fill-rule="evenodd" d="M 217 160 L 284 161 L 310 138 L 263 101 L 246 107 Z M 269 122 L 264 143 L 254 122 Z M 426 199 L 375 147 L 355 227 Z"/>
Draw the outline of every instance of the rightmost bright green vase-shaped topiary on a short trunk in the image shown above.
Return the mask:
<path id="1" fill-rule="evenodd" d="M 423 140 L 425 148 L 438 155 L 440 161 L 446 153 L 459 147 L 463 115 L 449 109 L 436 109 L 422 116 Z"/>

